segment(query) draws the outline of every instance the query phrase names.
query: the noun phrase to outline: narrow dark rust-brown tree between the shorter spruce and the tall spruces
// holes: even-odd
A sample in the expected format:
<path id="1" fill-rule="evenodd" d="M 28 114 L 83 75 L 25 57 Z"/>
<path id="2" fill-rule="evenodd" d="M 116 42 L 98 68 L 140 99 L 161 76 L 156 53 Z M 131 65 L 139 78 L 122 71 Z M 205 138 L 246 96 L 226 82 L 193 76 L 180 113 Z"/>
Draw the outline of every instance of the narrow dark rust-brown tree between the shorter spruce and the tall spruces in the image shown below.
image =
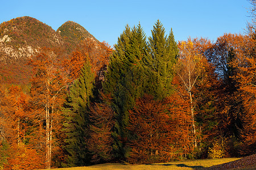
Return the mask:
<path id="1" fill-rule="evenodd" d="M 94 163 L 109 162 L 113 159 L 114 112 L 110 107 L 110 97 L 101 95 L 101 103 L 90 107 L 90 137 L 86 140 Z"/>

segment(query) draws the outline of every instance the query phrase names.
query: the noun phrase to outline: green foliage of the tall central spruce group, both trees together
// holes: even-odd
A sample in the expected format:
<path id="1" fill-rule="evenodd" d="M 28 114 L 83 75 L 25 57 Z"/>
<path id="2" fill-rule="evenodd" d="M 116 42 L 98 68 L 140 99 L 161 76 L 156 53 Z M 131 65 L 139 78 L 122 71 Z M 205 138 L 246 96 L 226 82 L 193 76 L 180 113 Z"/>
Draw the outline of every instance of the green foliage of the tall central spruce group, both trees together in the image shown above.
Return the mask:
<path id="1" fill-rule="evenodd" d="M 132 29 L 127 25 L 110 57 L 104 92 L 113 97 L 112 107 L 116 113 L 113 147 L 121 158 L 129 155 L 127 126 L 129 110 L 136 99 L 144 94 L 158 99 L 171 94 L 172 67 L 179 51 L 172 31 L 168 37 L 164 33 L 163 25 L 158 21 L 147 45 L 141 25 Z"/>

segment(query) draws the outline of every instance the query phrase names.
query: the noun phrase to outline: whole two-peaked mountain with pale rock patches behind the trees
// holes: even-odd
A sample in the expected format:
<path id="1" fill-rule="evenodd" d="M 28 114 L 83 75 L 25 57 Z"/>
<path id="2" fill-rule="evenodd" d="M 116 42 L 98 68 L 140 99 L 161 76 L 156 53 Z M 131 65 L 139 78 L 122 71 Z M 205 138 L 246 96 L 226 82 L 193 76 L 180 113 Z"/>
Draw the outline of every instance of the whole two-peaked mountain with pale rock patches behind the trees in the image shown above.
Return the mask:
<path id="1" fill-rule="evenodd" d="M 66 22 L 57 31 L 35 18 L 23 16 L 0 24 L 0 79 L 27 84 L 32 76 L 28 59 L 40 48 L 60 48 L 68 56 L 81 40 L 95 39 L 84 27 Z M 60 58 L 61 59 L 61 58 Z"/>

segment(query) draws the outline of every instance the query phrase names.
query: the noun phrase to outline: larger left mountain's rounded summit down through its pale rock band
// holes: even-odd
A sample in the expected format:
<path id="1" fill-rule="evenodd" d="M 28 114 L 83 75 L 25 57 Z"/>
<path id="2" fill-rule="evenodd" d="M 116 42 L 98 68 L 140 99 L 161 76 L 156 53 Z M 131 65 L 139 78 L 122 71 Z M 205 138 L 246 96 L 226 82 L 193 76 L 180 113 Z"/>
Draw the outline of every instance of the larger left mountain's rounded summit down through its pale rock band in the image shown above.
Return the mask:
<path id="1" fill-rule="evenodd" d="M 61 36 L 48 25 L 24 16 L 0 24 L 0 61 L 28 58 L 38 48 L 63 46 Z"/>

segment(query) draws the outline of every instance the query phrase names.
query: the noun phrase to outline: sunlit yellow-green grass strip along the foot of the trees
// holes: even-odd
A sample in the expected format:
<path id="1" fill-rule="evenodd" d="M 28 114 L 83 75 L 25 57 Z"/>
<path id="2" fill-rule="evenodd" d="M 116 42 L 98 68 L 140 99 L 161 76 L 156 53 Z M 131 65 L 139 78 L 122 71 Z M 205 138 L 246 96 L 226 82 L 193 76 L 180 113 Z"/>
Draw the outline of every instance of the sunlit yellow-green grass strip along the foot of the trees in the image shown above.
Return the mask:
<path id="1" fill-rule="evenodd" d="M 143 165 L 130 165 L 121 163 L 112 164 L 98 164 L 89 167 L 74 167 L 74 168 L 59 168 L 57 170 L 87 170 L 87 169 L 197 169 L 197 168 L 207 168 L 213 165 L 223 164 L 227 162 L 232 162 L 239 158 L 222 158 L 222 159 L 201 159 L 201 160 L 187 160 L 180 162 L 170 162 L 170 163 L 157 163 L 157 164 L 143 164 Z"/>

